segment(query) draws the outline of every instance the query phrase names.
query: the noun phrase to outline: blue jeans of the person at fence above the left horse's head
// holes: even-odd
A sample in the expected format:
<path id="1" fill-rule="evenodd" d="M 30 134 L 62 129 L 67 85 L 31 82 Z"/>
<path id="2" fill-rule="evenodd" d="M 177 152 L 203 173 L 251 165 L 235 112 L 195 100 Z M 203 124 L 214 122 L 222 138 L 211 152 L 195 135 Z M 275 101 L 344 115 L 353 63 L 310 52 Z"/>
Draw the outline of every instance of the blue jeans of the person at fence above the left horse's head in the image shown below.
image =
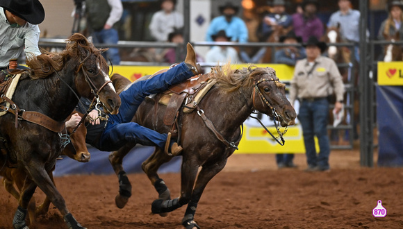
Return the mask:
<path id="1" fill-rule="evenodd" d="M 103 29 L 93 32 L 91 35 L 94 43 L 117 44 L 119 41 L 119 35 L 115 28 Z M 113 65 L 120 65 L 119 49 L 109 48 L 105 53 L 102 53 L 102 56 L 104 56 L 107 61 L 109 58 Z"/>

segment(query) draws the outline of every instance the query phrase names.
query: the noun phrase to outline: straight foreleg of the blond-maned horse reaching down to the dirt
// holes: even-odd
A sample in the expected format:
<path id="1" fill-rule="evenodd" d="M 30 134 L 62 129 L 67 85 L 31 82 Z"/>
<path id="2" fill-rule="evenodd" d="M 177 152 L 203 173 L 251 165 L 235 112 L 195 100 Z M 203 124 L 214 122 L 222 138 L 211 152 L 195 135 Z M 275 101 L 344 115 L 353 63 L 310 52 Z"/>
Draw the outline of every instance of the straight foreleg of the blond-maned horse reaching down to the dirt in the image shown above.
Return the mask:
<path id="1" fill-rule="evenodd" d="M 182 219 L 182 225 L 186 229 L 199 228 L 197 223 L 194 221 L 197 203 L 203 194 L 204 188 L 206 188 L 207 183 L 219 173 L 227 164 L 227 158 L 219 163 L 204 165 L 197 176 L 197 181 L 192 192 L 192 197 L 186 208 L 185 217 Z"/>

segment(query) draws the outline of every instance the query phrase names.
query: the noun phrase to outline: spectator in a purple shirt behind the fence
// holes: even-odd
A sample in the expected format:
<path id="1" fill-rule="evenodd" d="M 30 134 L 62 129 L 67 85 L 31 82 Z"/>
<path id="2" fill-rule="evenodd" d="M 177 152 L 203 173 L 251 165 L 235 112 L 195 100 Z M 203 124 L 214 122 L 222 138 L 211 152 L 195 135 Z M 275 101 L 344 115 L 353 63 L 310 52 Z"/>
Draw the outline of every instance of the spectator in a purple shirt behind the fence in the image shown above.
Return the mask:
<path id="1" fill-rule="evenodd" d="M 316 16 L 318 8 L 318 1 L 304 0 L 302 2 L 304 13 L 295 13 L 293 15 L 293 28 L 295 34 L 302 37 L 303 42 L 307 42 L 311 35 L 318 38 L 318 40 L 320 40 L 323 35 L 323 24 L 319 17 Z"/>

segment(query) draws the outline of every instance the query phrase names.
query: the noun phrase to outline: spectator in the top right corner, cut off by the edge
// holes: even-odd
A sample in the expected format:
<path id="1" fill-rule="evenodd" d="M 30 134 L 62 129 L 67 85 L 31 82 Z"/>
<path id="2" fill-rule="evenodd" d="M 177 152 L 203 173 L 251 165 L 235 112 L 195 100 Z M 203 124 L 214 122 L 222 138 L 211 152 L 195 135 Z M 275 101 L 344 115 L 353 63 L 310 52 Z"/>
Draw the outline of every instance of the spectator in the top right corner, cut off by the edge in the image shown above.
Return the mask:
<path id="1" fill-rule="evenodd" d="M 382 22 L 379 28 L 378 40 L 394 37 L 399 33 L 400 40 L 403 40 L 403 3 L 402 1 L 391 1 L 388 3 L 388 18 Z"/>

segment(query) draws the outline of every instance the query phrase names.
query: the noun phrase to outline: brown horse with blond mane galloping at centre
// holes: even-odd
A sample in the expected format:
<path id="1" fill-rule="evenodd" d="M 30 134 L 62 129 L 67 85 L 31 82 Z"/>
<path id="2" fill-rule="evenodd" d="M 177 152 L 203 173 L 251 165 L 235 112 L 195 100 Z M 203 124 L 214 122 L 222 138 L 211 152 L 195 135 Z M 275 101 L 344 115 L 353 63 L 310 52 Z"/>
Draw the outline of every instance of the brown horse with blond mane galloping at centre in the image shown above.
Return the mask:
<path id="1" fill-rule="evenodd" d="M 198 112 L 183 113 L 179 117 L 183 147 L 181 167 L 181 194 L 179 198 L 170 198 L 170 191 L 157 174 L 161 164 L 168 162 L 172 156 L 164 153 L 163 149 L 156 151 L 142 163 L 142 169 L 147 173 L 151 185 L 154 185 L 159 196 L 151 205 L 154 214 L 165 215 L 188 204 L 182 224 L 186 228 L 199 228 L 194 216 L 197 203 L 207 183 L 220 172 L 227 158 L 238 146 L 240 126 L 254 110 L 272 116 L 273 109 L 279 115 L 282 126 L 295 124 L 295 110 L 288 102 L 285 85 L 279 82 L 274 69 L 270 67 L 248 67 L 231 70 L 229 65 L 223 69 L 217 68 L 208 75 L 217 83 L 207 92 L 198 104 Z M 112 78 L 113 79 L 113 78 Z M 119 89 L 117 89 L 119 92 Z M 158 96 L 156 96 L 158 97 Z M 158 101 L 147 99 L 135 113 L 133 121 L 142 126 L 167 133 L 170 128 L 163 125 L 165 105 Z M 200 116 L 199 116 L 200 115 Z M 213 126 L 224 139 L 206 127 L 203 117 L 212 121 Z M 224 144 L 227 142 L 227 144 Z M 122 167 L 122 160 L 134 144 L 126 145 L 119 151 L 110 154 L 110 162 L 115 173 L 120 178 L 120 194 L 116 197 L 117 207 L 124 207 L 131 195 L 131 184 Z M 198 169 L 201 170 L 198 173 Z"/>

